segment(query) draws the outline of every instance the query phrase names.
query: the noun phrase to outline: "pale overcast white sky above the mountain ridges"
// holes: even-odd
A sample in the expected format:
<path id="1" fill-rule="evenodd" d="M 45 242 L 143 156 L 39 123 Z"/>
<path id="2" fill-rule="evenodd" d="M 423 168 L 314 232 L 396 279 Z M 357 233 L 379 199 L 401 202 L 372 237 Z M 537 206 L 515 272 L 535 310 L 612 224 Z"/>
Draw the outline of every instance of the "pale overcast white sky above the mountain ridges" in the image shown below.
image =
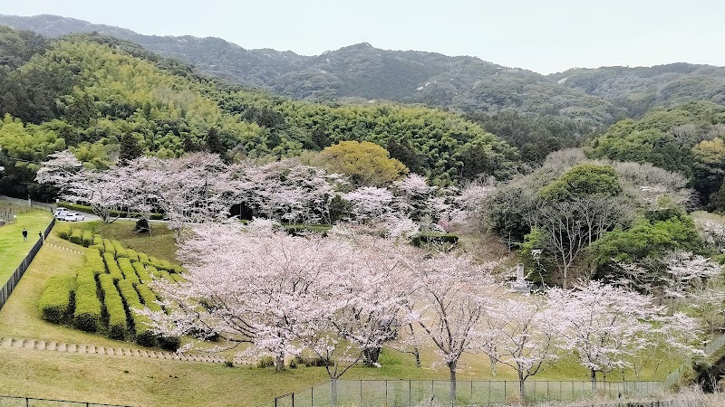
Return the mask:
<path id="1" fill-rule="evenodd" d="M 0 0 L 0 14 L 58 14 L 304 55 L 372 43 L 541 73 L 725 65 L 724 0 Z"/>

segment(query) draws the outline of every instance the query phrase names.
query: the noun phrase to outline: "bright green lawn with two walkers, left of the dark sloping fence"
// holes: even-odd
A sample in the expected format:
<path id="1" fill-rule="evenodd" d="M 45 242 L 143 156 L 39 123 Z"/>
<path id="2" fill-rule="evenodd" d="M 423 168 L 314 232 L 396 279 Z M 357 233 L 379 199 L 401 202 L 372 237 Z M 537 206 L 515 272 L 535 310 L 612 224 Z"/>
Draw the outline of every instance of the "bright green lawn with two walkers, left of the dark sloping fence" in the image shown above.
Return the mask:
<path id="1" fill-rule="evenodd" d="M 0 286 L 38 241 L 38 232 L 43 232 L 52 219 L 53 213 L 33 210 L 17 213 L 17 222 L 0 227 Z M 23 241 L 23 228 L 28 231 L 28 241 Z"/>

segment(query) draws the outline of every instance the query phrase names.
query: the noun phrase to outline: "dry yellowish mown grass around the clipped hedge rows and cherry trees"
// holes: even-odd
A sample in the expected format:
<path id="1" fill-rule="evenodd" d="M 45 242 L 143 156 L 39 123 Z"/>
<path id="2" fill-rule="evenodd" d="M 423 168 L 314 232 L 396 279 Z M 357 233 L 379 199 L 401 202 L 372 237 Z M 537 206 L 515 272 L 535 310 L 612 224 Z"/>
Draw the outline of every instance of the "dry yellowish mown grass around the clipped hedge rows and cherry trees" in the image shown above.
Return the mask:
<path id="1" fill-rule="evenodd" d="M 86 222 L 70 226 L 92 228 L 127 247 L 153 253 L 162 259 L 174 259 L 174 235 L 164 225 L 154 226 L 153 237 L 138 236 L 132 230 L 133 222 L 111 225 Z M 81 246 L 57 237 L 58 229 L 68 227 L 66 223 L 56 226 L 48 242 L 83 251 Z M 37 302 L 47 280 L 54 274 L 74 274 L 84 262 L 82 254 L 63 251 L 53 245 L 43 247 L 13 296 L 0 310 L 0 336 L 140 349 L 131 342 L 114 341 L 41 319 Z M 449 372 L 445 366 L 431 367 L 435 360 L 432 348 L 422 349 L 422 367 L 419 369 L 415 367 L 412 355 L 388 348 L 382 354 L 381 368 L 355 366 L 343 379 L 447 380 Z M 670 366 L 662 366 L 657 378 L 664 377 L 677 364 L 679 362 L 672 361 Z M 322 367 L 301 367 L 275 373 L 272 368 L 230 368 L 223 364 L 71 355 L 2 346 L 0 365 L 3 366 L 0 369 L 0 394 L 132 405 L 253 406 L 276 395 L 301 391 L 327 380 Z M 515 380 L 514 372 L 502 365 L 498 365 L 498 373 L 494 376 L 486 355 L 464 355 L 459 367 L 460 380 Z M 585 381 L 587 378 L 587 372 L 573 357 L 562 355 L 559 363 L 530 380 Z M 622 380 L 623 376 L 613 373 L 609 378 Z M 633 372 L 626 372 L 624 378 L 633 380 Z M 640 379 L 652 378 L 652 366 L 645 366 Z"/>

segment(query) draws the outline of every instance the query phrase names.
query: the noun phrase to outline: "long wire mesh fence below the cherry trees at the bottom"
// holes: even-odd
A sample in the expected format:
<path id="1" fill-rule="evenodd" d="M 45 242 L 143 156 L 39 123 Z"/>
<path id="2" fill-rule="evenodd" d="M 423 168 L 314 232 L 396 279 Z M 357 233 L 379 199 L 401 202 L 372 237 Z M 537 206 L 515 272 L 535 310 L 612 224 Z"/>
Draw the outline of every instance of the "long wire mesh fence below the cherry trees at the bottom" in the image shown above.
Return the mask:
<path id="1" fill-rule="evenodd" d="M 517 381 L 459 380 L 456 383 L 456 398 L 451 400 L 449 381 L 338 380 L 276 397 L 260 407 L 414 406 L 431 400 L 444 405 L 490 406 L 520 401 Z M 525 398 L 527 402 L 576 402 L 593 396 L 619 400 L 663 391 L 662 382 L 601 382 L 593 390 L 591 382 L 527 381 Z"/>

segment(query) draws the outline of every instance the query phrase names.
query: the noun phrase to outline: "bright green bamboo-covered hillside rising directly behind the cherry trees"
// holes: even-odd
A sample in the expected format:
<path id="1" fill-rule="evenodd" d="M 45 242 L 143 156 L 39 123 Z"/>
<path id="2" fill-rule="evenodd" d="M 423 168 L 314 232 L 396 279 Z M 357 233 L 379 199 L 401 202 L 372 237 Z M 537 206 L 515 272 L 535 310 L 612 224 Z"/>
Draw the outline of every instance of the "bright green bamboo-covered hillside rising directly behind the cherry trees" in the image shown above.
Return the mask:
<path id="1" fill-rule="evenodd" d="M 230 89 L 99 34 L 46 41 L 0 31 L 3 191 L 43 195 L 35 162 L 70 147 L 104 168 L 141 154 L 206 150 L 228 160 L 296 156 L 341 140 L 386 147 L 440 184 L 516 172 L 517 151 L 459 115 L 390 103 L 320 105 Z"/>

